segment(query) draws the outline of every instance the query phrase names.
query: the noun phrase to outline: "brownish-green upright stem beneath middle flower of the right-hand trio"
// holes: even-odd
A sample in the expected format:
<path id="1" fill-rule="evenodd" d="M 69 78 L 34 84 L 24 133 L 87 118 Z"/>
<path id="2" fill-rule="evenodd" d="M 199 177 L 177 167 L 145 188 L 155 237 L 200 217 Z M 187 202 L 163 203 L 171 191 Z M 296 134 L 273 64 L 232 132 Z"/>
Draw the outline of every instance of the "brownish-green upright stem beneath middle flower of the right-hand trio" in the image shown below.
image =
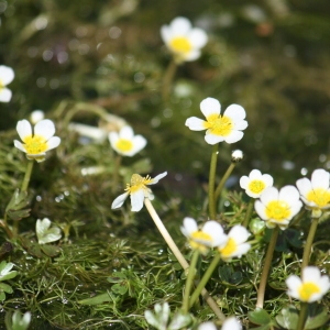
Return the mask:
<path id="1" fill-rule="evenodd" d="M 276 226 L 273 229 L 272 238 L 271 238 L 271 241 L 268 244 L 267 253 L 265 256 L 265 263 L 264 263 L 264 267 L 263 267 L 263 272 L 262 272 L 262 276 L 261 276 L 261 280 L 260 280 L 260 285 L 258 285 L 258 289 L 257 289 L 257 299 L 256 299 L 257 308 L 264 307 L 266 283 L 267 283 L 267 278 L 268 278 L 268 273 L 270 273 L 270 268 L 271 268 L 271 264 L 272 264 L 273 253 L 275 250 L 278 232 L 279 232 L 279 227 Z"/>

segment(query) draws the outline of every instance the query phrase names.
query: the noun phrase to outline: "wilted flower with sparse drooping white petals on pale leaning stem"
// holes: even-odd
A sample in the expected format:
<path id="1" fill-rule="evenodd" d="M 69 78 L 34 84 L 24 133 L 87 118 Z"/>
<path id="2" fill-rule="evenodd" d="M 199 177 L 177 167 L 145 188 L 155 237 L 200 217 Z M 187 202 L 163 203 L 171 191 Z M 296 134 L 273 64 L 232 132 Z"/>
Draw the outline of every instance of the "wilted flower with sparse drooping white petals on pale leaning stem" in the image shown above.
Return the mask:
<path id="1" fill-rule="evenodd" d="M 118 196 L 111 205 L 112 209 L 120 208 L 125 199 L 131 196 L 132 211 L 138 212 L 143 208 L 144 198 L 154 199 L 154 195 L 146 186 L 157 184 L 160 179 L 167 175 L 167 172 L 158 174 L 154 178 L 150 176 L 142 177 L 139 174 L 133 174 L 131 184 L 128 184 L 124 194 Z"/>

